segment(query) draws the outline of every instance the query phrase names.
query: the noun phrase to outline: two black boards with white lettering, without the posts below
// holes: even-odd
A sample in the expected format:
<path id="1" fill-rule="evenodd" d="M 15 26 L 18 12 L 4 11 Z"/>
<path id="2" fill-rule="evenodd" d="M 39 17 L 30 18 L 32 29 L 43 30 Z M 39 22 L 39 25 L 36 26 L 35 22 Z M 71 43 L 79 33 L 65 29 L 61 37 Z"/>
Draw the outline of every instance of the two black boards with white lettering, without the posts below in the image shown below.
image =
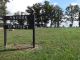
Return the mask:
<path id="1" fill-rule="evenodd" d="M 17 20 L 19 24 L 7 24 L 5 23 L 5 29 L 33 29 L 33 20 L 34 15 L 14 15 L 14 16 L 3 16 L 4 21 L 7 20 Z M 24 20 L 27 21 L 28 24 L 24 25 Z M 21 24 L 22 23 L 22 24 Z"/>

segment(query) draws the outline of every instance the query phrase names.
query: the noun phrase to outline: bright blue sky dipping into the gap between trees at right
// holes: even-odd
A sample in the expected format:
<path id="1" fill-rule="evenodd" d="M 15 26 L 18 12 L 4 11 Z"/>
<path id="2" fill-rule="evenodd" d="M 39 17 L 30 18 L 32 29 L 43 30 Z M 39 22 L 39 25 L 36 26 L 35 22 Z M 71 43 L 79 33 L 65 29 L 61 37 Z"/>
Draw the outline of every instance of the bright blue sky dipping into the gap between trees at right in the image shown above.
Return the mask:
<path id="1" fill-rule="evenodd" d="M 51 2 L 51 4 L 53 3 L 58 4 L 63 10 L 65 10 L 65 8 L 71 3 L 80 4 L 80 0 L 49 0 L 49 1 Z"/>

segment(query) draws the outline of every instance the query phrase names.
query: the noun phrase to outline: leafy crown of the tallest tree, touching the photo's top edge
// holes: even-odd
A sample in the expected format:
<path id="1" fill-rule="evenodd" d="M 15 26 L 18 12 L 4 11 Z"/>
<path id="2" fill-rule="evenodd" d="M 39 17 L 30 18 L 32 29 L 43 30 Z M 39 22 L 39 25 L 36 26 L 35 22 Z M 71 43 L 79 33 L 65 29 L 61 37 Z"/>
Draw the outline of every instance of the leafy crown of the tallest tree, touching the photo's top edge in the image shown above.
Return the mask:
<path id="1" fill-rule="evenodd" d="M 53 11 L 53 6 L 49 4 L 48 1 L 44 2 L 43 5 L 43 9 L 44 9 L 44 22 L 47 23 L 48 20 L 50 19 L 51 13 Z"/>

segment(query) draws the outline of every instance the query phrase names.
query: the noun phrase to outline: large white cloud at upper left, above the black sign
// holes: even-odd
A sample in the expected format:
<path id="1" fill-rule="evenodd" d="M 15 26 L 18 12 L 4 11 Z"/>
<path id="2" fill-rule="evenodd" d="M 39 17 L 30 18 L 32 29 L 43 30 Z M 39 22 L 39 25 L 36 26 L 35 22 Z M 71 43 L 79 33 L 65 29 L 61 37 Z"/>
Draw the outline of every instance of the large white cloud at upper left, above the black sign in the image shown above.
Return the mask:
<path id="1" fill-rule="evenodd" d="M 34 3 L 43 2 L 44 0 L 10 0 L 11 2 L 7 3 L 7 10 L 11 13 L 16 11 L 25 11 L 27 6 L 32 6 Z"/>

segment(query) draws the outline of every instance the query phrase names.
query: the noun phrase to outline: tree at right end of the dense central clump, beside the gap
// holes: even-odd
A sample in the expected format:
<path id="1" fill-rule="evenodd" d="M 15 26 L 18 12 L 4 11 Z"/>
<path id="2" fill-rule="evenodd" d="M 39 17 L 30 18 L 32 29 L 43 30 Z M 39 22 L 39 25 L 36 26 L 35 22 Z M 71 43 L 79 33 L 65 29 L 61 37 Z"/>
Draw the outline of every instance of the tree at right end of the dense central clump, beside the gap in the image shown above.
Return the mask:
<path id="1" fill-rule="evenodd" d="M 63 15 L 63 11 L 58 5 L 56 5 L 56 6 L 54 6 L 54 12 L 53 13 L 54 13 L 54 24 L 55 24 L 55 27 L 59 27 L 59 21 L 61 21 L 61 18 L 62 18 L 62 15 Z"/>

